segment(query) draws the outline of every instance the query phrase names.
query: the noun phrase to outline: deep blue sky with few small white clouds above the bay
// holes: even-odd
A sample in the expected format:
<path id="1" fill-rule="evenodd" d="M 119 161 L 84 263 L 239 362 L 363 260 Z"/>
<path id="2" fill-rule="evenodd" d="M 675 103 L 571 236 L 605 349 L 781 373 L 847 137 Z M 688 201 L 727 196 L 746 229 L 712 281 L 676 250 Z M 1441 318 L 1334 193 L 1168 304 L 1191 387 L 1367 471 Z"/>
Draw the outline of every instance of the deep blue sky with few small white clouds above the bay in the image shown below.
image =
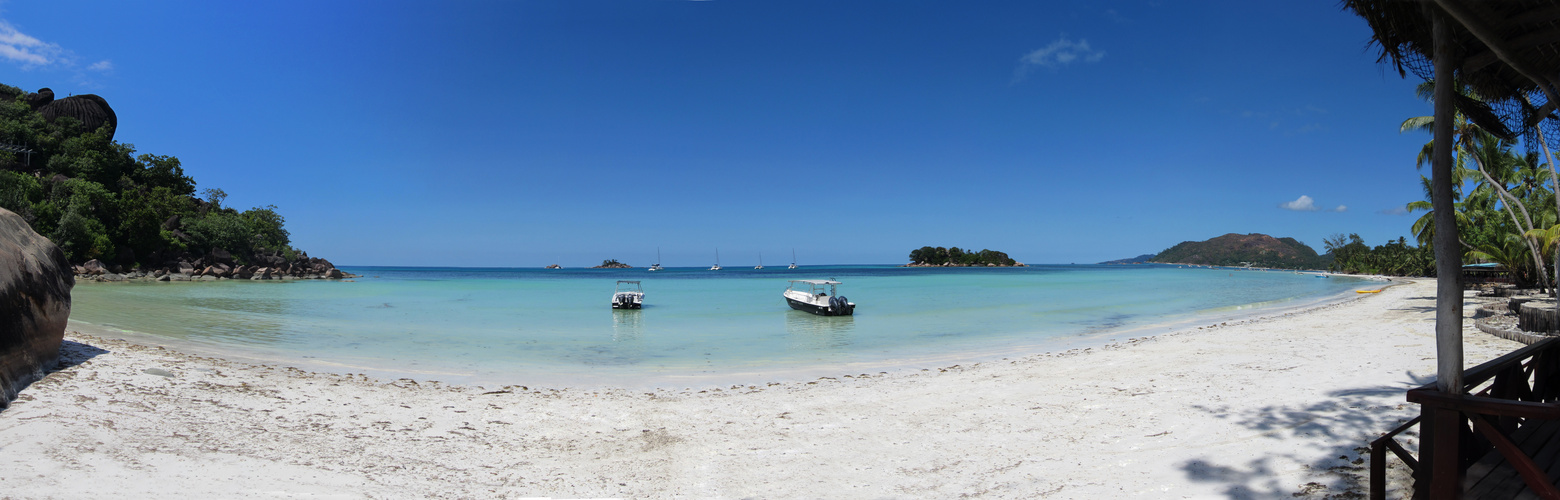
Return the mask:
<path id="1" fill-rule="evenodd" d="M 1332 2 L 5 2 L 0 83 L 339 265 L 1030 263 L 1409 234 L 1431 112 Z M 1303 198 L 1304 196 L 1304 198 Z M 1314 210 L 1293 210 L 1314 207 Z M 1342 207 L 1342 210 L 1338 210 Z"/>

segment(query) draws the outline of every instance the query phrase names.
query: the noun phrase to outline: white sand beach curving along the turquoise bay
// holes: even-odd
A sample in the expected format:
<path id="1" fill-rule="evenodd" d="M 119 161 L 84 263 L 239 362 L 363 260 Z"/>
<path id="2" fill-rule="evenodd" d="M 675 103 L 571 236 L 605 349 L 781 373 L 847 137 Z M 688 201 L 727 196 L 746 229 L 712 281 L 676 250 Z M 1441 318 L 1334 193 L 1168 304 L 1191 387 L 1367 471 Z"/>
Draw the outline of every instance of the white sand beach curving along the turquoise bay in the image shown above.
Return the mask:
<path id="1" fill-rule="evenodd" d="M 1005 361 L 711 391 L 473 388 L 67 332 L 0 497 L 1292 498 L 1363 492 L 1435 283 Z M 1473 313 L 1473 307 L 1468 307 Z M 1466 327 L 1470 366 L 1519 344 Z"/>

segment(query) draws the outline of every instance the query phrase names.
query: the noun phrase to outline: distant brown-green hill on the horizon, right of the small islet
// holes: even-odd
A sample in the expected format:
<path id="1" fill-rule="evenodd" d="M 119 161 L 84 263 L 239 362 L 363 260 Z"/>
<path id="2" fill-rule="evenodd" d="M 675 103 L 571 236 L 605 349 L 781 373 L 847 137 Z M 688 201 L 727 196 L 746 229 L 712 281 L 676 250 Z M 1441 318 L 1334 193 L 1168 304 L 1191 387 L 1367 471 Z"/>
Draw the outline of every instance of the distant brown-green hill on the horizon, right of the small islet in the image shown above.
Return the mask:
<path id="1" fill-rule="evenodd" d="M 1154 255 L 1159 263 L 1197 263 L 1215 266 L 1239 266 L 1250 262 L 1260 268 L 1321 269 L 1326 259 L 1295 238 L 1275 238 L 1265 234 L 1226 234 L 1207 241 L 1181 241 Z"/>

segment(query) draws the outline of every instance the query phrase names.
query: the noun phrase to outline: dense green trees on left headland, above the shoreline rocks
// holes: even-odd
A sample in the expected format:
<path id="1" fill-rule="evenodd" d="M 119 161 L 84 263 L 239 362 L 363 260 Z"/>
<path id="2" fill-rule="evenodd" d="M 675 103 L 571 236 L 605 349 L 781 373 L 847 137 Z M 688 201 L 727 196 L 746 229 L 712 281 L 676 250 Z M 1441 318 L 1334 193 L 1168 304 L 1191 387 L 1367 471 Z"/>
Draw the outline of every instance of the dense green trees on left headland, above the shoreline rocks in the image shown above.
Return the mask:
<path id="1" fill-rule="evenodd" d="M 70 262 L 158 266 L 181 255 L 298 252 L 275 206 L 237 210 L 175 156 L 136 151 L 109 139 L 109 125 L 83 129 L 72 117 L 45 120 L 20 89 L 0 84 L 0 207 L 48 237 Z"/>

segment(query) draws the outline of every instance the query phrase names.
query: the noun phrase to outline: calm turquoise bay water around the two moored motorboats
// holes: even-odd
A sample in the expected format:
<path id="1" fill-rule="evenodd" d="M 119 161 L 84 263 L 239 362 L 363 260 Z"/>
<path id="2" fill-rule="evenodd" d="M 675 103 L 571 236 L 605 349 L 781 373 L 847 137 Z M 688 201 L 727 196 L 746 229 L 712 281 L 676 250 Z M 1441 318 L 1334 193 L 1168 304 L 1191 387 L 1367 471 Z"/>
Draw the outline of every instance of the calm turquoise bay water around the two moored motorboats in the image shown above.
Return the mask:
<path id="1" fill-rule="evenodd" d="M 346 271 L 363 277 L 80 283 L 72 319 L 342 372 L 485 385 L 677 385 L 1050 350 L 1373 285 L 1087 265 Z M 786 307 L 786 280 L 825 277 L 844 282 L 839 291 L 856 302 L 855 316 Z M 610 308 L 618 279 L 643 280 L 643 310 Z"/>

